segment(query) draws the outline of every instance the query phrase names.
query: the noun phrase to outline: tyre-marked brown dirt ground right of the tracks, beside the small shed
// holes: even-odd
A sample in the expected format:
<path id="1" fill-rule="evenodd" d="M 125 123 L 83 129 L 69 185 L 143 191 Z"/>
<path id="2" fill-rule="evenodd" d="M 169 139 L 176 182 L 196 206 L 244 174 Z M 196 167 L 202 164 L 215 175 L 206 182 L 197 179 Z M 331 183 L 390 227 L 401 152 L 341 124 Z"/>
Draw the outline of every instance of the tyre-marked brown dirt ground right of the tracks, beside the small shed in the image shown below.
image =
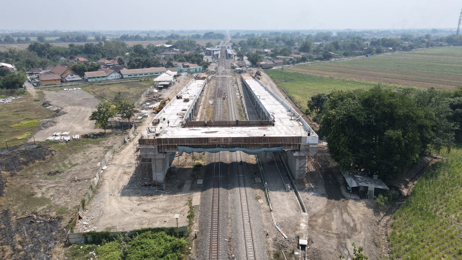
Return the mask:
<path id="1" fill-rule="evenodd" d="M 314 188 L 300 192 L 308 211 L 310 259 L 338 259 L 353 255 L 352 243 L 365 249 L 369 259 L 386 259 L 380 246 L 379 220 L 383 213 L 374 200 L 359 199 L 342 185 L 342 175 L 331 161 L 323 167 Z"/>

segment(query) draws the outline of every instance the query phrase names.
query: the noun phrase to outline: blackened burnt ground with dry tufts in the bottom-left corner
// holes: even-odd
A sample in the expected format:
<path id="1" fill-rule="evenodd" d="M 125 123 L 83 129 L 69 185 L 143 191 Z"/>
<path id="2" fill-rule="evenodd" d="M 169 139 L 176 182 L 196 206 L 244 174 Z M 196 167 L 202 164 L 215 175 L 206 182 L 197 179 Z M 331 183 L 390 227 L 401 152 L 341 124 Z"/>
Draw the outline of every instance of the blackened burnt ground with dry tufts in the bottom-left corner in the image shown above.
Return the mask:
<path id="1" fill-rule="evenodd" d="M 3 259 L 51 259 L 49 251 L 61 235 L 61 217 L 30 212 L 23 217 L 0 212 L 0 252 Z"/>

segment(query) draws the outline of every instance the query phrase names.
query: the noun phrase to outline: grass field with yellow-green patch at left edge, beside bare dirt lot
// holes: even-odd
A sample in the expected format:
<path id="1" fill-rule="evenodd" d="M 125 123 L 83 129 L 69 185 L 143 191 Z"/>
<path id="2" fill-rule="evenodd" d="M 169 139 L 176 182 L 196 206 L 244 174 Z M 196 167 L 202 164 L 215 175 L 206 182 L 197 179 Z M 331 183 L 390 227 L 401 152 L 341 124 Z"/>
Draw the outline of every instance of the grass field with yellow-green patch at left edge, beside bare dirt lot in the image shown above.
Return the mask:
<path id="1" fill-rule="evenodd" d="M 38 92 L 35 98 L 26 94 L 23 99 L 0 104 L 0 115 L 3 119 L 0 122 L 0 147 L 6 147 L 6 140 L 31 136 L 39 127 L 38 121 L 53 114 L 53 111 L 42 106 L 42 94 Z M 8 143 L 9 146 L 18 144 L 19 142 Z"/>

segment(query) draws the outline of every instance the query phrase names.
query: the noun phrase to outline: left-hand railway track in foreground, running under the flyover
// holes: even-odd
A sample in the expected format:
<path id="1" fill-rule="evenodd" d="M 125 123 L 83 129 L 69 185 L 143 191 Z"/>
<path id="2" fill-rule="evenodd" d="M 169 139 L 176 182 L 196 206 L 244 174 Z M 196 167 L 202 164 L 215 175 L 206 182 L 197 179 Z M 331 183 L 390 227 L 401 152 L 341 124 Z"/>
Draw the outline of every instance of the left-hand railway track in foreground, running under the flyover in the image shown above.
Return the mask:
<path id="1" fill-rule="evenodd" d="M 214 154 L 213 188 L 212 188 L 212 217 L 210 224 L 210 254 L 209 260 L 220 258 L 219 244 L 219 195 L 220 195 L 220 153 Z"/>

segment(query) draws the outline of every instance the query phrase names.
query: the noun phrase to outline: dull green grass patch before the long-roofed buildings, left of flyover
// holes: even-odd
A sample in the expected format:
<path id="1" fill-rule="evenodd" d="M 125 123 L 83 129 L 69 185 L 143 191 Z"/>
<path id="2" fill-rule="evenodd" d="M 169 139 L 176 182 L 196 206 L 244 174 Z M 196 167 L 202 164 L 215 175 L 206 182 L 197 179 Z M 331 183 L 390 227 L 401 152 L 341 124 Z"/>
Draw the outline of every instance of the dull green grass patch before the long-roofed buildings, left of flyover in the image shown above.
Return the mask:
<path id="1" fill-rule="evenodd" d="M 152 85 L 152 79 L 143 81 L 131 81 L 125 83 L 115 83 L 99 86 L 97 84 L 81 87 L 85 89 L 97 99 L 102 101 L 111 100 L 117 92 L 122 92 L 129 102 L 134 103 L 140 99 L 141 94 Z"/>

